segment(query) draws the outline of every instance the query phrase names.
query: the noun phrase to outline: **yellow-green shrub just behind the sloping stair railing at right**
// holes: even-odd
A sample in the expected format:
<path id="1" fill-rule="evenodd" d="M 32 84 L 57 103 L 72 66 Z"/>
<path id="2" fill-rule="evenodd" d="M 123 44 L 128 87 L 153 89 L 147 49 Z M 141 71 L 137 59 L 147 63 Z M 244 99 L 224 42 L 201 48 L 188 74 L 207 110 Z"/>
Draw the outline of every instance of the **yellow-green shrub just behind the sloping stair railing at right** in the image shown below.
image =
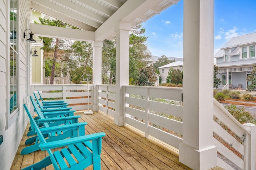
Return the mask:
<path id="1" fill-rule="evenodd" d="M 225 108 L 231 113 L 241 124 L 256 123 L 255 115 L 250 111 L 246 111 L 244 107 L 236 107 L 236 105 L 226 105 Z"/>

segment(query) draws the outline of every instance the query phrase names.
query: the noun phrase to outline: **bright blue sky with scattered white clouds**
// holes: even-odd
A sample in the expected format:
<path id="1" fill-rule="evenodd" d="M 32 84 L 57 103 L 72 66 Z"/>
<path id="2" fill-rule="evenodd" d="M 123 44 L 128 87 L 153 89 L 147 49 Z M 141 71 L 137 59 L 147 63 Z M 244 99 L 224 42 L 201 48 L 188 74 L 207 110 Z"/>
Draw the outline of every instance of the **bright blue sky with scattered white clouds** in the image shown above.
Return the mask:
<path id="1" fill-rule="evenodd" d="M 232 37 L 256 32 L 256 0 L 214 0 L 214 54 Z M 183 0 L 142 24 L 152 55 L 183 57 Z"/>

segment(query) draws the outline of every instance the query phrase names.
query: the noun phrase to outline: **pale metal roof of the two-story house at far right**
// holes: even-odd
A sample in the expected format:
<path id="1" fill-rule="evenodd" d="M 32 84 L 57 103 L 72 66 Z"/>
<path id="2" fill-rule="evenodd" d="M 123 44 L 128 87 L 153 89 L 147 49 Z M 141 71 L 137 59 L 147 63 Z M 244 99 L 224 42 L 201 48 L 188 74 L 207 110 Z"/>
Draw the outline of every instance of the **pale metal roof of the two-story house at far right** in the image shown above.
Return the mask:
<path id="1" fill-rule="evenodd" d="M 228 42 L 225 45 L 223 45 L 221 49 L 226 49 L 250 43 L 256 43 L 256 33 L 250 33 L 238 37 L 233 37 L 230 40 L 228 40 Z"/>

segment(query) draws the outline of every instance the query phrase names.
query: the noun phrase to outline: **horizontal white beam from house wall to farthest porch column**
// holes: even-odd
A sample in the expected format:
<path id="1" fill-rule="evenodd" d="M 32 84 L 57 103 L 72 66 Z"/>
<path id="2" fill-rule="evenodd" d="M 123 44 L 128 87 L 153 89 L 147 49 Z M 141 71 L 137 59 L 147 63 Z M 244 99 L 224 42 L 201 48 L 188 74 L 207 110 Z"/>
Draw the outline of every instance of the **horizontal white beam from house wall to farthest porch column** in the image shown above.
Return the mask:
<path id="1" fill-rule="evenodd" d="M 51 25 L 42 25 L 36 23 L 30 23 L 30 29 L 36 36 L 40 37 L 53 37 L 59 39 L 70 39 L 75 41 L 94 41 L 93 31 L 55 27 Z"/>

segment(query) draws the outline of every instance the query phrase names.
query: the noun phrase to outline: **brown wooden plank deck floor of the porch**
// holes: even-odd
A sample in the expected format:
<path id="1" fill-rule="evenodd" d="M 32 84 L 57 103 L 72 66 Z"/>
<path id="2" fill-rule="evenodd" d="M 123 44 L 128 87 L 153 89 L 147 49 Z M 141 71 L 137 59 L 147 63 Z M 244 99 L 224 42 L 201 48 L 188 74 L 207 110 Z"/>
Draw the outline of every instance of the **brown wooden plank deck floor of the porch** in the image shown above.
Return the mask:
<path id="1" fill-rule="evenodd" d="M 106 117 L 99 112 L 94 112 L 92 115 L 84 115 L 83 112 L 76 114 L 81 115 L 80 121 L 88 122 L 86 134 L 106 133 L 102 140 L 102 170 L 190 170 L 178 161 L 177 150 L 153 138 L 147 139 L 142 133 L 129 126 L 118 127 L 113 123 L 111 117 Z M 20 155 L 20 151 L 25 147 L 24 143 L 28 139 L 27 131 L 28 127 L 20 142 L 11 170 L 20 170 L 47 156 L 47 153 L 41 150 Z M 46 168 L 46 170 L 53 169 L 52 166 Z M 213 170 L 221 169 L 216 167 Z M 92 166 L 86 170 L 92 170 Z"/>

